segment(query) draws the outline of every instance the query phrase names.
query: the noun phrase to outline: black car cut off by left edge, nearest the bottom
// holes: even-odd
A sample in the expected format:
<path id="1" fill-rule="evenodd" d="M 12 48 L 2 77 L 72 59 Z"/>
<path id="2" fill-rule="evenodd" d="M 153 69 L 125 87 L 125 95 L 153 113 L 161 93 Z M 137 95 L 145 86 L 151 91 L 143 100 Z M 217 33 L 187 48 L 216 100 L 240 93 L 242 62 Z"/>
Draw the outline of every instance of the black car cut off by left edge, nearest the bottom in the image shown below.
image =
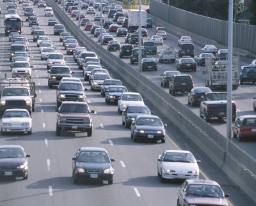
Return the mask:
<path id="1" fill-rule="evenodd" d="M 0 145 L 0 177 L 28 179 L 28 158 L 19 145 Z"/>

